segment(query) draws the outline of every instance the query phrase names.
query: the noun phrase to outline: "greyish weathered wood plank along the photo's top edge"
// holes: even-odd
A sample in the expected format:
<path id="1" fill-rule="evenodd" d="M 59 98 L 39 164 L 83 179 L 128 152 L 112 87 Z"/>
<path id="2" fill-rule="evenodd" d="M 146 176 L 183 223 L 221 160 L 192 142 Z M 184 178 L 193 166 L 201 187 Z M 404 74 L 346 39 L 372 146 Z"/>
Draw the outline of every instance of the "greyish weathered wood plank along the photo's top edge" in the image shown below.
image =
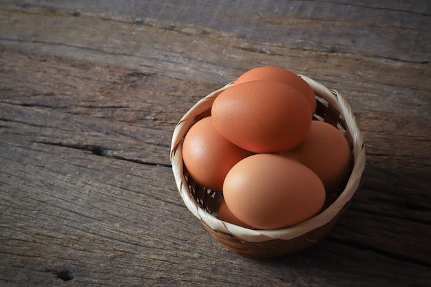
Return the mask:
<path id="1" fill-rule="evenodd" d="M 430 61 L 426 43 L 431 39 L 429 33 L 421 31 L 431 24 L 431 6 L 426 1 L 222 1 L 204 4 L 187 1 L 158 2 L 151 6 L 136 0 L 121 6 L 109 1 L 97 4 L 87 1 L 7 2 L 11 8 L 50 14 L 62 12 L 154 25 L 165 21 L 172 30 L 176 30 L 178 23 L 185 23 L 235 31 L 243 39 L 299 50 L 348 52 L 416 63 Z M 307 33 L 302 33 L 304 27 Z M 423 41 L 417 41 L 424 36 Z M 414 50 L 412 42 L 417 43 Z"/>

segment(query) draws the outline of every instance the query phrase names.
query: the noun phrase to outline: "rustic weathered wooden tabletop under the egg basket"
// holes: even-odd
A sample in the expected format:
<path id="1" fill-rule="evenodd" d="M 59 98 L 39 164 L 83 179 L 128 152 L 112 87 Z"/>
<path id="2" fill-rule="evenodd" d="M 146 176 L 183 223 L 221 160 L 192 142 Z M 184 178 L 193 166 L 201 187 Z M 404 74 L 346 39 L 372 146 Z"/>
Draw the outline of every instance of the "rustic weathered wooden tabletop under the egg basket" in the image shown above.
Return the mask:
<path id="1" fill-rule="evenodd" d="M 0 285 L 431 286 L 430 44 L 430 1 L 0 1 Z M 328 237 L 253 260 L 187 210 L 169 148 L 261 65 L 346 96 L 367 164 Z"/>

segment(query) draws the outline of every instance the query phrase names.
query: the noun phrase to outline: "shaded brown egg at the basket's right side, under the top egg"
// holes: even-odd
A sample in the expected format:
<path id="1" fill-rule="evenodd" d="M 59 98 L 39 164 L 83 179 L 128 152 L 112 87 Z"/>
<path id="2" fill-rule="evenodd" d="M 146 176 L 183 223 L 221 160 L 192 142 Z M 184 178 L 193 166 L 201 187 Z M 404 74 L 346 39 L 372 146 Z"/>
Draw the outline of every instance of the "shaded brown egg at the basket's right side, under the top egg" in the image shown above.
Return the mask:
<path id="1" fill-rule="evenodd" d="M 313 170 L 322 180 L 328 196 L 344 187 L 350 174 L 352 156 L 348 141 L 336 127 L 313 120 L 306 138 L 297 147 L 280 153 Z"/>

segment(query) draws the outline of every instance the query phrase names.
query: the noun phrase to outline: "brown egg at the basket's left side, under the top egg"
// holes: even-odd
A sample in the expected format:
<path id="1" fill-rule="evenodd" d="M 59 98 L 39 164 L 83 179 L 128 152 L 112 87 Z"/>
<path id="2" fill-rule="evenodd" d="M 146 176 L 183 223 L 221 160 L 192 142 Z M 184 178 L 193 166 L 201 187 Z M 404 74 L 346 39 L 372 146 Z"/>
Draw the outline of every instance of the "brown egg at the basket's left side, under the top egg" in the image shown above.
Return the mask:
<path id="1" fill-rule="evenodd" d="M 211 116 L 195 123 L 182 143 L 182 158 L 191 177 L 198 184 L 222 190 L 227 172 L 246 156 L 245 151 L 229 142 L 215 129 Z"/>

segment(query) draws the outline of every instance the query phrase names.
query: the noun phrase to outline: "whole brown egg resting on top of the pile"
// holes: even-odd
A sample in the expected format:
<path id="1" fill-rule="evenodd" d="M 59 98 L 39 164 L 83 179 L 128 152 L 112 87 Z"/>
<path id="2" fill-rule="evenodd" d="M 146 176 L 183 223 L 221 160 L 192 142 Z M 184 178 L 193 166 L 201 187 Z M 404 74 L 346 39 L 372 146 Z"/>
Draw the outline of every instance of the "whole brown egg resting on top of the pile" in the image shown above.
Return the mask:
<path id="1" fill-rule="evenodd" d="M 277 81 L 250 81 L 225 89 L 213 102 L 211 118 L 222 136 L 254 153 L 291 149 L 311 125 L 304 96 Z"/>

